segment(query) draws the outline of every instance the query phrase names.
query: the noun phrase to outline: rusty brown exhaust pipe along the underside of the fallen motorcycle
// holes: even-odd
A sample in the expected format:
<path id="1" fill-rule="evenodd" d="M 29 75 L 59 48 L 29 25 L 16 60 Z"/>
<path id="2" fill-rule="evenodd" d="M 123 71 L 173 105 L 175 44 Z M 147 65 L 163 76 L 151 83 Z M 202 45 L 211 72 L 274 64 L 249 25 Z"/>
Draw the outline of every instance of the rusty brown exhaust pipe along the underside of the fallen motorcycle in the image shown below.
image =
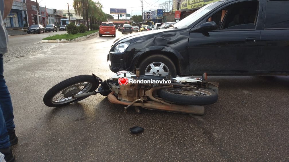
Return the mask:
<path id="1" fill-rule="evenodd" d="M 111 103 L 121 104 L 121 105 L 130 105 L 131 102 L 123 102 L 119 101 L 114 95 L 114 92 L 108 95 L 108 100 Z M 151 109 L 151 110 L 162 110 L 169 112 L 177 112 L 184 114 L 195 114 L 195 115 L 203 115 L 205 113 L 204 106 L 199 105 L 177 105 L 171 104 L 171 106 L 164 105 L 162 103 L 133 103 L 132 106 L 140 106 L 143 108 Z"/>

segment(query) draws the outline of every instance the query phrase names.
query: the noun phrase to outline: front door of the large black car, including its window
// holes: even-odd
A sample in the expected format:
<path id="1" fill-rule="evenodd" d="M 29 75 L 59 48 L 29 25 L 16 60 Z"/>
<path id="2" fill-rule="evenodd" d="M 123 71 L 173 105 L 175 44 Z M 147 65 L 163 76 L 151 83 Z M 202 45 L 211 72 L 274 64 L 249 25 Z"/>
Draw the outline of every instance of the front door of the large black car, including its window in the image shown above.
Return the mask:
<path id="1" fill-rule="evenodd" d="M 260 54 L 260 13 L 262 1 L 233 1 L 203 19 L 200 24 L 214 21 L 218 29 L 190 32 L 190 74 L 244 75 L 256 70 Z"/>

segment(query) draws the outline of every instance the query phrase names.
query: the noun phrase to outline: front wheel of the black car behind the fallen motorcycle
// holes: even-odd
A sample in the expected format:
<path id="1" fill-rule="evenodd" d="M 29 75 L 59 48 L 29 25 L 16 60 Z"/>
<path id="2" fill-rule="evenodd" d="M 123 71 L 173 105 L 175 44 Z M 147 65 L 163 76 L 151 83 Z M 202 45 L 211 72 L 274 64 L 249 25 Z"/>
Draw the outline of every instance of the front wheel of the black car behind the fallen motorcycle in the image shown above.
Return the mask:
<path id="1" fill-rule="evenodd" d="M 157 67 L 155 70 L 151 66 Z M 162 67 L 160 67 L 162 66 Z M 168 76 L 171 73 L 172 77 L 177 76 L 175 64 L 171 59 L 163 54 L 154 54 L 145 58 L 140 64 L 140 75 Z M 151 74 L 149 74 L 151 73 Z"/>

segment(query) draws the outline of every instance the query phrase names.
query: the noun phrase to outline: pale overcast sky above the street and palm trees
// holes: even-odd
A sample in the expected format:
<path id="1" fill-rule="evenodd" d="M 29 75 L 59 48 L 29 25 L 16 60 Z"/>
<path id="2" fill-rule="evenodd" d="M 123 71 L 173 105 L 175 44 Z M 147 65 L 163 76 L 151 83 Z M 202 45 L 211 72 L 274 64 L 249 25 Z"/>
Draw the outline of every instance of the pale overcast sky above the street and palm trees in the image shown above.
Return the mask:
<path id="1" fill-rule="evenodd" d="M 32 0 L 36 1 L 36 0 Z M 37 0 L 39 5 L 49 9 L 67 10 L 67 3 L 72 7 L 73 0 Z M 159 9 L 159 4 L 165 3 L 168 0 L 143 0 L 143 11 Z M 127 14 L 141 15 L 141 1 L 140 0 L 99 0 L 103 5 L 103 12 L 110 14 L 110 8 L 126 8 Z M 114 17 L 114 18 L 117 18 Z"/>

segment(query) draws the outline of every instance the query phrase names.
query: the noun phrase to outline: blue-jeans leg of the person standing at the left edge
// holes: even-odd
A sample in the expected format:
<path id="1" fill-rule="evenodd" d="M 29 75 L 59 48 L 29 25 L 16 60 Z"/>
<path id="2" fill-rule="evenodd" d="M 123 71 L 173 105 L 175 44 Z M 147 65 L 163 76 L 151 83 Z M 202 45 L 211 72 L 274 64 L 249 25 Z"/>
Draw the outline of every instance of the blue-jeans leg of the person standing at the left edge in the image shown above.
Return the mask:
<path id="1" fill-rule="evenodd" d="M 6 132 L 8 131 L 10 143 L 11 145 L 14 145 L 17 144 L 18 137 L 15 135 L 12 101 L 8 88 L 5 84 L 6 82 L 4 80 L 3 71 L 3 54 L 0 54 L 0 107 L 3 114 L 2 116 L 5 120 Z"/>

